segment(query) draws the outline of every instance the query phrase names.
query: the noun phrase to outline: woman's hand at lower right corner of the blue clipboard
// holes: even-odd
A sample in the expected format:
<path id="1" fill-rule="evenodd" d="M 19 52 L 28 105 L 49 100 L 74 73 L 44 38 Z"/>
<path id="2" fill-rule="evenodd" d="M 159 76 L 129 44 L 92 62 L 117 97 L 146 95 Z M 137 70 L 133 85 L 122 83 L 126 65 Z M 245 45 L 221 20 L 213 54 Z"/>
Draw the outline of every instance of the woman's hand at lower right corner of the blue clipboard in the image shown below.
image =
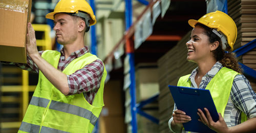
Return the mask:
<path id="1" fill-rule="evenodd" d="M 209 110 L 207 108 L 204 108 L 204 110 L 205 110 L 206 116 L 204 115 L 201 109 L 198 109 L 197 114 L 200 117 L 200 119 L 198 119 L 199 121 L 204 123 L 206 126 L 211 128 L 212 130 L 215 130 L 216 132 L 229 132 L 229 128 L 227 127 L 227 124 L 220 113 L 219 113 L 219 120 L 217 122 L 214 122 L 214 120 L 212 120 L 210 116 Z"/>

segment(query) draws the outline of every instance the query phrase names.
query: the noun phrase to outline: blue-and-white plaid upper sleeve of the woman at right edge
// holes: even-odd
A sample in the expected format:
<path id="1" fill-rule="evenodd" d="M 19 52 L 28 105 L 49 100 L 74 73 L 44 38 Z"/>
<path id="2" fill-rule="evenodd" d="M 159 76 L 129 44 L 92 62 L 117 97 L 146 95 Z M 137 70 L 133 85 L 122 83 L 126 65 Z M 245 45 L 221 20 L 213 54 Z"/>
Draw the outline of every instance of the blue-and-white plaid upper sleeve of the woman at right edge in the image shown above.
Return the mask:
<path id="1" fill-rule="evenodd" d="M 247 117 L 256 117 L 256 94 L 252 91 L 250 82 L 244 75 L 237 75 L 234 78 L 230 97 L 240 110 Z"/>

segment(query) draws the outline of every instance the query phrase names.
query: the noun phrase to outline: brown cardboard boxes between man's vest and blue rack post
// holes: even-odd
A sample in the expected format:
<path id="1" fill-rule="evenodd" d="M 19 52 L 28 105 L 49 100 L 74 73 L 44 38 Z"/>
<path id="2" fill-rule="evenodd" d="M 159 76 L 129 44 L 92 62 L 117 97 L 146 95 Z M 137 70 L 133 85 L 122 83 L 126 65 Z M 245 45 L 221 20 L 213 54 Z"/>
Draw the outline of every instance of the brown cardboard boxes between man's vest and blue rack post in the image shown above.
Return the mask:
<path id="1" fill-rule="evenodd" d="M 104 86 L 104 106 L 99 117 L 99 132 L 125 132 L 121 81 L 110 80 Z"/>

